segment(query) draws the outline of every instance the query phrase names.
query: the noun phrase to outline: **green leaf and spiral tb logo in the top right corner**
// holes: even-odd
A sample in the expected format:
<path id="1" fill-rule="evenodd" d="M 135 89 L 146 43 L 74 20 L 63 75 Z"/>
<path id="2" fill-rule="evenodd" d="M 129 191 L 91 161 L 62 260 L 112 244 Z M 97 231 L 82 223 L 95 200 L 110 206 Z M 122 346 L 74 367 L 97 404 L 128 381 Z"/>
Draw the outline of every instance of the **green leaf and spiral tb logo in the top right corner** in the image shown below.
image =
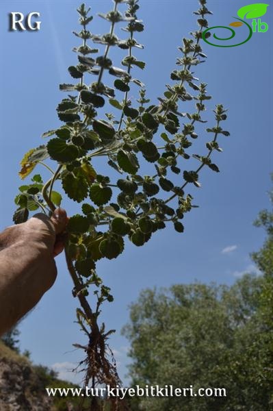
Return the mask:
<path id="1" fill-rule="evenodd" d="M 214 26 L 214 27 L 209 27 L 208 29 L 203 32 L 202 37 L 205 42 L 207 42 L 208 45 L 214 46 L 214 47 L 237 47 L 244 45 L 244 43 L 248 42 L 250 38 L 252 38 L 253 33 L 265 33 L 268 31 L 268 24 L 264 23 L 261 21 L 261 16 L 264 16 L 268 10 L 269 4 L 265 3 L 255 3 L 255 4 L 249 4 L 249 5 L 244 5 L 244 7 L 240 8 L 237 12 L 238 17 L 236 18 L 237 21 L 234 21 L 233 23 L 230 23 L 231 27 L 242 27 L 246 26 L 248 29 L 247 35 L 248 38 L 246 40 L 239 42 L 237 45 L 215 45 L 212 42 L 208 40 L 208 38 L 211 36 L 211 30 L 213 29 L 227 29 L 231 32 L 231 36 L 228 38 L 220 38 L 216 36 L 216 34 L 213 34 L 213 38 L 216 40 L 220 41 L 227 41 L 231 40 L 236 36 L 236 32 L 234 29 L 231 27 L 226 27 L 226 26 Z M 252 19 L 252 22 L 249 21 L 249 23 L 245 19 Z"/>

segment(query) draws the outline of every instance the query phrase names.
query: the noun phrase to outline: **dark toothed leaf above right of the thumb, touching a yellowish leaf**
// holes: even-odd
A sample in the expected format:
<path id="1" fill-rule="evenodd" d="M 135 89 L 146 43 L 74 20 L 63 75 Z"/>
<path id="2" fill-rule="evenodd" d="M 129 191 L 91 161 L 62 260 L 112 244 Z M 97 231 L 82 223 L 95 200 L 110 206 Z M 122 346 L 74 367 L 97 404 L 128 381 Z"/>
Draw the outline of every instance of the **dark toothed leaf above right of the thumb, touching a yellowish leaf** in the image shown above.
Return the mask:
<path id="1" fill-rule="evenodd" d="M 81 175 L 66 174 L 62 179 L 64 191 L 70 199 L 81 203 L 88 196 L 88 183 Z"/>

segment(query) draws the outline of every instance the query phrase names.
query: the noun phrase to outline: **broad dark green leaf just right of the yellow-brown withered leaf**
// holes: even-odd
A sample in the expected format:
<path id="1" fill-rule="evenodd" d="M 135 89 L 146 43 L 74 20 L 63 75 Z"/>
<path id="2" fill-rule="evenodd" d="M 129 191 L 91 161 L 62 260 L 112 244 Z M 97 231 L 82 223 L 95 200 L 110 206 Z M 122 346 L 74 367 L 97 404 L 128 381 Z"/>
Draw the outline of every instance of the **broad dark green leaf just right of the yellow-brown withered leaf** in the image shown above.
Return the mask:
<path id="1" fill-rule="evenodd" d="M 47 143 L 47 151 L 53 160 L 59 162 L 71 162 L 79 155 L 79 149 L 75 145 L 68 145 L 61 138 L 52 138 Z"/>

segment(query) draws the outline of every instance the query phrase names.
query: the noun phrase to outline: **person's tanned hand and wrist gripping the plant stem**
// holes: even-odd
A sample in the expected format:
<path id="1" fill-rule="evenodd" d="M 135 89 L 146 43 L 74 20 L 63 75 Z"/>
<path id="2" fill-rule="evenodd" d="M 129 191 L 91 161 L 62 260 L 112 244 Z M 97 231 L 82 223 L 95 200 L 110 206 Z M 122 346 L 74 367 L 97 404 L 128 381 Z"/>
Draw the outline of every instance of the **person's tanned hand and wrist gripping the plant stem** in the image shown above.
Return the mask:
<path id="1" fill-rule="evenodd" d="M 51 218 L 36 214 L 0 234 L 0 335 L 53 286 L 54 257 L 64 249 L 67 221 L 66 212 L 59 208 Z"/>

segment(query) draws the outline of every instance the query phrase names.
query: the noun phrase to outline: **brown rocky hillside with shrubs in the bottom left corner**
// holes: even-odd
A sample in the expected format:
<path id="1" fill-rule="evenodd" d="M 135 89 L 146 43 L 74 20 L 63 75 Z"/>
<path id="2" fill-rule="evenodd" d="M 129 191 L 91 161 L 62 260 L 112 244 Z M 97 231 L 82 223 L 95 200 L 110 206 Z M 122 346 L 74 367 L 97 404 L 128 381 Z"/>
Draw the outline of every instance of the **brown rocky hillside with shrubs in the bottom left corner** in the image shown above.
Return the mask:
<path id="1" fill-rule="evenodd" d="M 34 366 L 0 341 L 0 410 L 1 411 L 70 411 L 75 410 L 65 399 L 48 397 L 44 388 L 73 386 L 58 380 Z"/>

